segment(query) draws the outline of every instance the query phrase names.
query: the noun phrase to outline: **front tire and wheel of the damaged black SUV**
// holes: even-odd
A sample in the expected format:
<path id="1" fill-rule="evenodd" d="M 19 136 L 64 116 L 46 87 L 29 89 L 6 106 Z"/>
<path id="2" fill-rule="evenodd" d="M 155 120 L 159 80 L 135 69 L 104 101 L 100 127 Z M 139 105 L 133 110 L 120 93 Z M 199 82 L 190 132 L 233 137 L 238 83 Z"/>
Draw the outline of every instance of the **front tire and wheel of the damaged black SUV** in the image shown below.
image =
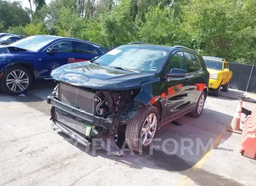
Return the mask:
<path id="1" fill-rule="evenodd" d="M 152 138 L 150 138 L 151 129 L 149 127 L 150 133 L 145 132 L 144 129 L 148 128 L 147 126 L 150 125 L 146 121 L 148 117 L 152 116 L 151 123 L 154 122 L 154 118 L 156 121 L 154 122 L 154 128 L 155 133 Z M 150 125 L 150 126 L 151 126 Z M 139 110 L 138 114 L 132 119 L 129 123 L 127 123 L 126 130 L 125 130 L 125 140 L 127 143 L 127 146 L 136 152 L 143 152 L 146 151 L 150 144 L 152 143 L 152 139 L 155 138 L 156 132 L 158 131 L 159 127 L 159 111 L 155 108 L 155 106 L 145 107 Z M 143 131 L 142 131 L 143 129 Z M 143 135 L 144 133 L 144 135 Z M 147 138 L 145 136 L 147 135 Z M 151 140 L 150 140 L 151 139 Z M 144 142 L 144 143 L 143 143 Z"/>

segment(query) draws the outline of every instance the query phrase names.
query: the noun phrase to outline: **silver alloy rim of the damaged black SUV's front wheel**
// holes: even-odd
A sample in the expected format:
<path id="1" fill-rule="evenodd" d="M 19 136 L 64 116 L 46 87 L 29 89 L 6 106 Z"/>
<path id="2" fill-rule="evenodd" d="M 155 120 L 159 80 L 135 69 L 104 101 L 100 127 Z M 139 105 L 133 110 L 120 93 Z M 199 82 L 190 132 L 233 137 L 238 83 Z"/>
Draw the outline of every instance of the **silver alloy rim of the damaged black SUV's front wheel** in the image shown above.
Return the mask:
<path id="1" fill-rule="evenodd" d="M 143 146 L 147 146 L 151 143 L 156 132 L 157 118 L 155 114 L 150 114 L 143 123 L 141 130 L 141 142 Z"/>

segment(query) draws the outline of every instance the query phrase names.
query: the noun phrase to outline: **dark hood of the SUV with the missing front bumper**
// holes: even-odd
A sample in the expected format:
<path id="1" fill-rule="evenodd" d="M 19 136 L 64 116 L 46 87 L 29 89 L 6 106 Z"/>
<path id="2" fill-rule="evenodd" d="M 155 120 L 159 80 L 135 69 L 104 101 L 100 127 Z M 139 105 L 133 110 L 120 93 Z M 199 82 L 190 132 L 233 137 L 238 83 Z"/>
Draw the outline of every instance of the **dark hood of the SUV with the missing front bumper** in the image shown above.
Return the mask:
<path id="1" fill-rule="evenodd" d="M 139 88 L 142 82 L 155 78 L 155 74 L 123 71 L 82 62 L 63 65 L 51 73 L 57 81 L 93 89 L 124 90 Z"/>

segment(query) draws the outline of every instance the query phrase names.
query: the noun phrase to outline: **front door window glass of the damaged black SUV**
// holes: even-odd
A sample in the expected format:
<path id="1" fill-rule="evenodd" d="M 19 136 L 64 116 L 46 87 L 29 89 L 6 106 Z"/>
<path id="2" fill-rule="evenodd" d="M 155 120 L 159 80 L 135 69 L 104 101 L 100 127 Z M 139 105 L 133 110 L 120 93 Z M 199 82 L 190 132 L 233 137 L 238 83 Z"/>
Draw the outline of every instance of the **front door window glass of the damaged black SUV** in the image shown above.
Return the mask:
<path id="1" fill-rule="evenodd" d="M 176 52 L 172 57 L 168 64 L 168 72 L 173 68 L 183 69 L 188 71 L 187 64 L 185 63 L 183 52 Z"/>

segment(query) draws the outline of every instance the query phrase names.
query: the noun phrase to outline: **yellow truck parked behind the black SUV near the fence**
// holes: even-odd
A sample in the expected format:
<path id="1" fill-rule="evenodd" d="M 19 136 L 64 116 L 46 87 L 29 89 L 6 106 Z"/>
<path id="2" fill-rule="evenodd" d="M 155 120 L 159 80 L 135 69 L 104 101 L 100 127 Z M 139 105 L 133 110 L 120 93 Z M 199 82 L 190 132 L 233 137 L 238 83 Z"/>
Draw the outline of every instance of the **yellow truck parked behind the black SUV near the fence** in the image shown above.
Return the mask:
<path id="1" fill-rule="evenodd" d="M 210 73 L 209 89 L 212 90 L 213 96 L 218 97 L 221 87 L 222 91 L 228 92 L 229 82 L 232 78 L 228 62 L 219 57 L 203 56 L 203 59 Z"/>

